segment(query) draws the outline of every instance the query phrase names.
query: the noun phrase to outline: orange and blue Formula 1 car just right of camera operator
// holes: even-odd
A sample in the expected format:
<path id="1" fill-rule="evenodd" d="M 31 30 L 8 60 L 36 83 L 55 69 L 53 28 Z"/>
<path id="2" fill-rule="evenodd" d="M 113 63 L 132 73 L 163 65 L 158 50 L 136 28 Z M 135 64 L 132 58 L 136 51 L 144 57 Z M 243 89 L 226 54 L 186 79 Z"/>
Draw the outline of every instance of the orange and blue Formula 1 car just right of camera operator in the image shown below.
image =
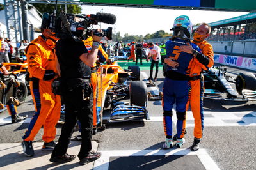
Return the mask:
<path id="1" fill-rule="evenodd" d="M 106 123 L 149 119 L 147 85 L 140 81 L 140 67 L 129 66 L 123 69 L 115 59 L 108 59 L 106 65 L 100 65 L 97 70 L 97 82 L 97 97 L 93 104 L 93 118 L 96 117 L 97 122 L 96 125 L 93 123 L 94 128 L 104 128 L 103 111 L 110 111 L 109 119 L 104 119 Z M 64 120 L 63 113 L 64 109 L 60 120 Z"/>

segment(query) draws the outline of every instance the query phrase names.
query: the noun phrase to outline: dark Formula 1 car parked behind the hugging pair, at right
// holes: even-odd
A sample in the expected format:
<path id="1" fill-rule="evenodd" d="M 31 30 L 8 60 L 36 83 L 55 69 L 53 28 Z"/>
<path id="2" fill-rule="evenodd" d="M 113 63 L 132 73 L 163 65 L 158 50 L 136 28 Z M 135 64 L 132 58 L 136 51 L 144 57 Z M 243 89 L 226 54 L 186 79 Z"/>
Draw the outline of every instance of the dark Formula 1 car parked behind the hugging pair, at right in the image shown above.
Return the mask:
<path id="1" fill-rule="evenodd" d="M 228 75 L 225 65 L 209 68 L 208 72 L 204 72 L 204 87 L 204 98 L 207 99 L 231 101 L 232 104 L 256 101 L 255 75 L 243 72 L 234 78 Z"/>

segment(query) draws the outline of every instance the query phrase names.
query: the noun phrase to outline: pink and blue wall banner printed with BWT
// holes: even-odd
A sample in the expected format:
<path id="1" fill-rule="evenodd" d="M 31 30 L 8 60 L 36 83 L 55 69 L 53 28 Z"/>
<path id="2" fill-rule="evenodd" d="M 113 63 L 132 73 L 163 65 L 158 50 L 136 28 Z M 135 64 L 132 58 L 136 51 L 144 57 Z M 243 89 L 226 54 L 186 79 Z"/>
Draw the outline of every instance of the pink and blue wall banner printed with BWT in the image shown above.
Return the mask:
<path id="1" fill-rule="evenodd" d="M 236 66 L 256 71 L 256 58 L 246 58 L 241 56 L 228 56 L 225 54 L 214 54 L 214 63 Z"/>

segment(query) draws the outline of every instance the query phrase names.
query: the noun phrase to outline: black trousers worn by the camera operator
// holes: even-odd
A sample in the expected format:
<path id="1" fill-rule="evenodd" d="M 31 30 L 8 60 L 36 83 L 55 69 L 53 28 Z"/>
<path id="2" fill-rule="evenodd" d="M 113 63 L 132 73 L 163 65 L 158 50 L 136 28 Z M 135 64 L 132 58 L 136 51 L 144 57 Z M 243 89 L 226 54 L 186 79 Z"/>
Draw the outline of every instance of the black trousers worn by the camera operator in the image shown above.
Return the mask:
<path id="1" fill-rule="evenodd" d="M 89 100 L 83 98 L 89 97 Z M 65 91 L 65 123 L 61 128 L 61 135 L 58 144 L 52 151 L 52 156 L 60 156 L 67 153 L 68 144 L 73 134 L 77 119 L 81 123 L 82 143 L 78 158 L 86 157 L 92 150 L 92 132 L 93 132 L 93 93 L 89 83 L 85 87 L 79 86 L 76 89 Z"/>

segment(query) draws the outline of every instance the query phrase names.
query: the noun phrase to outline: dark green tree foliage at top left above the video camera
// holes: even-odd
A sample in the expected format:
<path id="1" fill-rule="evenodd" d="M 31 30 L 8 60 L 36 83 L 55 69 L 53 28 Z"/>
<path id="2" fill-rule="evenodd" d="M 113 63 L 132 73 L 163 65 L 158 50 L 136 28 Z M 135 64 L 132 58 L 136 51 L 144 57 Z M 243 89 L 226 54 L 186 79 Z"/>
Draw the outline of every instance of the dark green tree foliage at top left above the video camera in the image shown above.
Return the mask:
<path id="1" fill-rule="evenodd" d="M 40 11 L 41 13 L 52 13 L 54 12 L 55 4 L 33 4 L 35 8 Z M 61 10 L 65 11 L 65 5 L 64 4 L 58 4 L 57 5 L 57 12 L 59 13 Z M 75 4 L 67 4 L 67 13 L 81 13 L 82 8 Z M 58 15 L 57 13 L 57 15 Z"/>

